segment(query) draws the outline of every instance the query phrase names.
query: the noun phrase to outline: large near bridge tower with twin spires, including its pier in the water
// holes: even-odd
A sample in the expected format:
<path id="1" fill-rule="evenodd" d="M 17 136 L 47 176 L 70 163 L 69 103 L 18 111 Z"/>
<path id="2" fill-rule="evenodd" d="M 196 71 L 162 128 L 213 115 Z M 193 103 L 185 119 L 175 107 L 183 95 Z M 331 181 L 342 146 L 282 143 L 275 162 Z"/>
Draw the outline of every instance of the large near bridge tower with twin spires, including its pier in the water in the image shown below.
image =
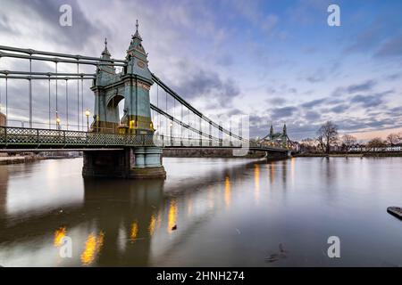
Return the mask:
<path id="1" fill-rule="evenodd" d="M 95 94 L 94 122 L 91 131 L 113 134 L 145 134 L 155 132 L 151 119 L 149 90 L 153 85 L 148 69 L 147 53 L 138 32 L 131 36 L 127 50 L 127 65 L 116 73 L 107 63 L 111 54 L 102 52 L 96 79 L 91 87 Z M 124 99 L 120 120 L 118 104 Z M 118 176 L 125 178 L 165 177 L 162 165 L 162 149 L 156 146 L 126 148 L 124 151 L 85 151 L 84 176 Z"/>

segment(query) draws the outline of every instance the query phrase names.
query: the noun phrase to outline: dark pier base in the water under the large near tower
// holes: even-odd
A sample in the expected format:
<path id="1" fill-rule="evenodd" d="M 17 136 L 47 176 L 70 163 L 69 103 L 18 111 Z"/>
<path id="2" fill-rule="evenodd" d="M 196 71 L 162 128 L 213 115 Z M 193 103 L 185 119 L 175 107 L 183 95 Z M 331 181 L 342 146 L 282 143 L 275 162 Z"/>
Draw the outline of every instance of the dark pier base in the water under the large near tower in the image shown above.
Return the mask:
<path id="1" fill-rule="evenodd" d="M 142 147 L 123 151 L 84 151 L 82 175 L 128 179 L 165 178 L 162 149 Z"/>

